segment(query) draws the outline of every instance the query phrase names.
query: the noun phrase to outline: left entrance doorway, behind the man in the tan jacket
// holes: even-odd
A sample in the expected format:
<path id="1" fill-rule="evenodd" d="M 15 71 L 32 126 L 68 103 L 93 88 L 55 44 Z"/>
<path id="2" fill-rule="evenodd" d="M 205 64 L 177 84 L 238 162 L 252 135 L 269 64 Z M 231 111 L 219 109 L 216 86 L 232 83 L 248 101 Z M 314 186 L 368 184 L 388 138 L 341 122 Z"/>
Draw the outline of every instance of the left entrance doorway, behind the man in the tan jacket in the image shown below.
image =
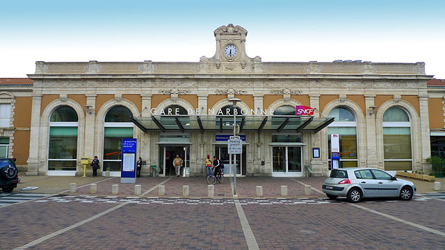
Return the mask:
<path id="1" fill-rule="evenodd" d="M 185 177 L 189 174 L 190 150 L 186 146 L 161 146 L 159 149 L 161 153 L 161 176 L 176 176 L 175 166 L 173 160 L 179 155 L 184 163 L 181 167 L 181 176 Z"/>

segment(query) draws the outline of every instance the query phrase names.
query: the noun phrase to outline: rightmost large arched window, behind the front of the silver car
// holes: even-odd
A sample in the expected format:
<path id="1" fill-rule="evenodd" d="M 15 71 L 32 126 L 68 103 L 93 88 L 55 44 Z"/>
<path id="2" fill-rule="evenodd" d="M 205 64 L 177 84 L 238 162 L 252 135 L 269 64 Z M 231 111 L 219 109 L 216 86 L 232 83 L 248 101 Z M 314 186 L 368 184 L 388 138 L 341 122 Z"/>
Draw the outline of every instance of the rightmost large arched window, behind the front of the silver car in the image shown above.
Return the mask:
<path id="1" fill-rule="evenodd" d="M 400 107 L 383 114 L 385 170 L 412 170 L 410 117 Z"/>

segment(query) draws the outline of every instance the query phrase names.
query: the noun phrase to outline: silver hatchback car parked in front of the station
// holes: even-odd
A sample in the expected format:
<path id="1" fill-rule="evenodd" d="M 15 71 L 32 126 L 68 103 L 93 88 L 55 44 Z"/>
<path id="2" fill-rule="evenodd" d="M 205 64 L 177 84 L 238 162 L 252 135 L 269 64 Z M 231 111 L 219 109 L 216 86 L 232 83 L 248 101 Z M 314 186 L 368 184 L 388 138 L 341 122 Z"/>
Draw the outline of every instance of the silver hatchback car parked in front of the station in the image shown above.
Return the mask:
<path id="1" fill-rule="evenodd" d="M 332 169 L 322 189 L 329 199 L 344 196 L 353 203 L 369 197 L 400 197 L 409 201 L 416 194 L 416 186 L 411 181 L 398 179 L 380 169 L 359 167 Z"/>

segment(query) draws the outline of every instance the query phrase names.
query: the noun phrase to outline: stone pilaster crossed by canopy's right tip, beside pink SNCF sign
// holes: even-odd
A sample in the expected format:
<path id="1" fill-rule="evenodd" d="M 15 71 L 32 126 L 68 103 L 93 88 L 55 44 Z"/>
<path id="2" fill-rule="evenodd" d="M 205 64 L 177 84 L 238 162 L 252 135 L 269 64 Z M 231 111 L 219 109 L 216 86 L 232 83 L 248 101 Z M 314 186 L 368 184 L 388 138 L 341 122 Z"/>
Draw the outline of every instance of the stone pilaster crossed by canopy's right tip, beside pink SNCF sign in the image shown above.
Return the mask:
<path id="1" fill-rule="evenodd" d="M 320 94 L 309 94 L 309 105 L 311 108 L 316 108 L 320 110 Z M 314 112 L 314 117 L 319 117 L 319 113 Z M 311 151 L 309 156 L 311 158 L 311 168 L 313 176 L 323 176 L 323 172 L 327 172 L 327 166 L 323 169 L 322 158 L 312 158 L 312 148 L 321 147 L 321 132 L 313 133 L 311 136 L 311 148 L 307 148 L 306 150 Z M 305 169 L 303 170 L 303 176 L 305 176 Z"/>

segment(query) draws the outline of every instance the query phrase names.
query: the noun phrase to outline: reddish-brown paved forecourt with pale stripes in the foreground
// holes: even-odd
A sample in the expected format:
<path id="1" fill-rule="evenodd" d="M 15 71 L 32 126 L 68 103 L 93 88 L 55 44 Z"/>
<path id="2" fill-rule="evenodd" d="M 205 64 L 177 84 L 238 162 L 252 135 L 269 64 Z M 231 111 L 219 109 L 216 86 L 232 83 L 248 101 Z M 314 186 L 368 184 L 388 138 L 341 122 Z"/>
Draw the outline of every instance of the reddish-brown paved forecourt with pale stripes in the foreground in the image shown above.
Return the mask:
<path id="1" fill-rule="evenodd" d="M 252 238 L 246 240 L 236 203 L 259 249 L 445 248 L 445 201 L 433 197 L 371 199 L 351 206 L 344 199 L 324 197 L 58 194 L 0 207 L 0 249 L 248 249 Z M 29 242 L 33 244 L 26 246 Z"/>

